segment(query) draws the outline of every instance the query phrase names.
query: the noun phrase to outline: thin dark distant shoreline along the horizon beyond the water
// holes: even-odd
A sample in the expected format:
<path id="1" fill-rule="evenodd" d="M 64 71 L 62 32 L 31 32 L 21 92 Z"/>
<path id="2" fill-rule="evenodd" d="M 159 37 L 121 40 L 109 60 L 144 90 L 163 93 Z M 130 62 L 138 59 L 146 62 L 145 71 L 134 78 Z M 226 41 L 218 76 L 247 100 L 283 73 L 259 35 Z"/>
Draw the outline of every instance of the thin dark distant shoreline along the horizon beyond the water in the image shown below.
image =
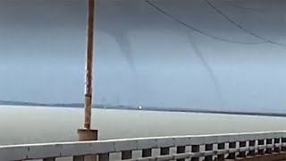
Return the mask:
<path id="1" fill-rule="evenodd" d="M 30 102 L 18 102 L 18 101 L 1 101 L 0 106 L 48 106 L 48 107 L 70 107 L 70 108 L 82 108 L 84 105 L 80 103 L 74 104 L 40 104 Z M 112 106 L 112 105 L 95 105 L 93 108 L 98 109 L 122 109 L 122 110 L 139 110 L 138 106 Z M 200 109 L 188 109 L 188 108 L 170 108 L 170 107 L 151 107 L 143 106 L 142 111 L 160 111 L 160 112 L 183 112 L 183 113 L 200 113 L 200 114 L 235 114 L 235 115 L 257 115 L 257 116 L 275 116 L 286 117 L 286 114 L 278 113 L 256 113 L 256 112 L 231 112 L 231 111 L 219 111 L 219 110 L 200 110 Z"/>

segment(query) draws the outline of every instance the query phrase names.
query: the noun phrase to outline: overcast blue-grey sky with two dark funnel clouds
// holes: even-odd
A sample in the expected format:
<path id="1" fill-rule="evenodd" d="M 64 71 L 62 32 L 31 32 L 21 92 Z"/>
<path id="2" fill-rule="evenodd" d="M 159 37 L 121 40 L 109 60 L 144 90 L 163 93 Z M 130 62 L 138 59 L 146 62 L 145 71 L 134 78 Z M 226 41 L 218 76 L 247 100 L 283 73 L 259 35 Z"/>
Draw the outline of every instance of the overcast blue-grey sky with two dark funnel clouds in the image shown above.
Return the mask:
<path id="1" fill-rule="evenodd" d="M 97 0 L 96 103 L 284 112 L 285 1 L 150 2 Z M 86 5 L 0 1 L 1 100 L 82 102 Z"/>

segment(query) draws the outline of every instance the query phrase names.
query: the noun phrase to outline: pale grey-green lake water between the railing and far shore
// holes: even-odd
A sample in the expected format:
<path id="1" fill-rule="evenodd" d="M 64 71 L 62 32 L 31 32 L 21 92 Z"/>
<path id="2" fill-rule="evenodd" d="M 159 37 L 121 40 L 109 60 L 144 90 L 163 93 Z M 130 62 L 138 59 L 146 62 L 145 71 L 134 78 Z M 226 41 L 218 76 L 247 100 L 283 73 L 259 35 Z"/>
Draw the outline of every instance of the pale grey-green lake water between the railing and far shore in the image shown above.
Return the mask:
<path id="1" fill-rule="evenodd" d="M 94 109 L 99 139 L 286 130 L 286 118 Z M 77 140 L 82 108 L 0 106 L 0 144 Z"/>

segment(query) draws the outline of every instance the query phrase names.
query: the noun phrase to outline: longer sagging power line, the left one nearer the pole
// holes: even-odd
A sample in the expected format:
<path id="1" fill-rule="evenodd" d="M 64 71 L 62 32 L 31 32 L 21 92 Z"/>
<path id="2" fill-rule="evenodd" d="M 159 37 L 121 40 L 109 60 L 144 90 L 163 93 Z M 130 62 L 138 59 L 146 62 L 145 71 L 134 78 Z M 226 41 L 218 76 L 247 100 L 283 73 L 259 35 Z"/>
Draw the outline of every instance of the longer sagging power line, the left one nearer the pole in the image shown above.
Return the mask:
<path id="1" fill-rule="evenodd" d="M 214 39 L 217 39 L 217 40 L 220 40 L 220 41 L 223 41 L 223 42 L 227 42 L 227 43 L 242 44 L 242 45 L 257 45 L 257 44 L 267 43 L 266 41 L 260 41 L 260 42 L 240 42 L 240 41 L 234 41 L 234 40 L 227 39 L 227 38 L 220 38 L 220 37 L 215 37 L 213 35 L 209 35 L 209 34 L 207 34 L 206 32 L 204 32 L 202 30 L 198 30 L 197 28 L 195 28 L 193 26 L 190 26 L 189 24 L 176 19 L 174 16 L 172 16 L 172 14 L 166 13 L 163 9 L 159 8 L 158 6 L 156 6 L 156 4 L 153 4 L 153 3 L 151 3 L 148 0 L 145 0 L 145 2 L 147 4 L 149 4 L 149 5 L 151 5 L 152 7 L 154 7 L 158 12 L 163 13 L 164 15 L 168 16 L 169 18 L 171 18 L 173 21 L 177 21 L 178 23 L 180 23 L 181 25 L 185 26 L 186 28 L 188 28 L 190 30 L 194 30 L 194 31 L 196 31 L 196 32 L 206 36 L 206 37 L 214 38 Z"/>

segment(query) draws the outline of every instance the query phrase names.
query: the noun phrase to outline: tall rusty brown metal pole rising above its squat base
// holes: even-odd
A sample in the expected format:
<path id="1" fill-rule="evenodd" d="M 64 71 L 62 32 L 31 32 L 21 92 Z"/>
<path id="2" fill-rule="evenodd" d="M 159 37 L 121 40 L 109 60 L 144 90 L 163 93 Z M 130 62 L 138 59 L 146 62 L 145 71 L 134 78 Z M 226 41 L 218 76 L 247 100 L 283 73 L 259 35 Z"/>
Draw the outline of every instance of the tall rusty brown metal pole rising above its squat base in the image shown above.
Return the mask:
<path id="1" fill-rule="evenodd" d="M 86 62 L 86 87 L 85 87 L 85 115 L 84 127 L 90 129 L 92 107 L 92 64 L 93 64 L 93 38 L 94 38 L 94 13 L 95 0 L 88 0 L 88 40 Z"/>

